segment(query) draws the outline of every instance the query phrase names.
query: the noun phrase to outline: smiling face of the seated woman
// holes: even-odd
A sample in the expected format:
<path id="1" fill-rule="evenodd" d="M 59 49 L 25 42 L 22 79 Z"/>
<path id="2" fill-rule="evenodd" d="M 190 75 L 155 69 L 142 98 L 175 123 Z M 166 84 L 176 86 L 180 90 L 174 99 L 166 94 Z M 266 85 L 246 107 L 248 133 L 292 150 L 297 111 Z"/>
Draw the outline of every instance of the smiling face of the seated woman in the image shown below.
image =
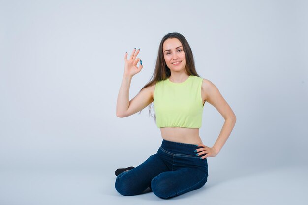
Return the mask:
<path id="1" fill-rule="evenodd" d="M 186 56 L 183 51 L 182 43 L 177 38 L 168 38 L 162 45 L 165 62 L 173 71 L 185 70 Z"/>

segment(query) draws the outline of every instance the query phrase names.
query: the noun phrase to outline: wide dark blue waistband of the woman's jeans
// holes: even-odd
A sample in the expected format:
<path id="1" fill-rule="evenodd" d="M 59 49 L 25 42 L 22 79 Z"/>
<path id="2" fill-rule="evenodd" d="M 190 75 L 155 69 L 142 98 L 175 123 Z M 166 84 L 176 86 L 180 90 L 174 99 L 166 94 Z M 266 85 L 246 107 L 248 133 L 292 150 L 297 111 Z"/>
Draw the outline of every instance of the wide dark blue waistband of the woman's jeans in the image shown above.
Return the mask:
<path id="1" fill-rule="evenodd" d="M 197 147 L 195 144 L 179 143 L 164 139 L 162 140 L 161 147 L 174 154 L 187 154 L 191 156 L 195 156 L 196 152 L 194 151 L 201 148 Z"/>

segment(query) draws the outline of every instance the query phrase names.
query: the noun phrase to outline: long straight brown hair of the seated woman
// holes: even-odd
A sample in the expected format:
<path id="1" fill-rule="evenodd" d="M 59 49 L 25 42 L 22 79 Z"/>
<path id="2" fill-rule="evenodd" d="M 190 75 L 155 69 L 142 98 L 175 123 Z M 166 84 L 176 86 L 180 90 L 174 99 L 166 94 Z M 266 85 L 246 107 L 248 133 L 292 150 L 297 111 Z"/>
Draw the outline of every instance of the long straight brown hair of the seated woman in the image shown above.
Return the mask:
<path id="1" fill-rule="evenodd" d="M 197 71 L 196 71 L 195 61 L 194 61 L 194 58 L 193 58 L 193 55 L 192 55 L 192 51 L 191 51 L 191 48 L 190 48 L 186 38 L 182 34 L 177 33 L 177 32 L 168 33 L 160 41 L 154 73 L 152 74 L 151 80 L 143 88 L 147 88 L 149 86 L 152 86 L 156 82 L 161 81 L 161 80 L 166 80 L 167 78 L 170 77 L 170 75 L 171 75 L 170 68 L 167 67 L 167 64 L 166 64 L 165 59 L 164 59 L 163 50 L 162 50 L 162 46 L 163 46 L 165 40 L 167 40 L 168 38 L 177 38 L 182 43 L 183 51 L 184 51 L 185 56 L 186 56 L 186 66 L 185 66 L 186 73 L 188 75 L 194 75 L 194 76 L 200 77 L 198 75 Z M 141 90 L 143 88 L 141 88 Z M 149 105 L 149 114 L 151 114 L 151 104 L 152 103 L 150 103 L 150 105 Z M 141 111 L 139 112 L 139 114 L 140 113 L 141 113 Z M 154 110 L 154 116 L 155 116 L 155 110 Z M 156 117 L 155 117 L 155 122 L 156 122 Z"/>

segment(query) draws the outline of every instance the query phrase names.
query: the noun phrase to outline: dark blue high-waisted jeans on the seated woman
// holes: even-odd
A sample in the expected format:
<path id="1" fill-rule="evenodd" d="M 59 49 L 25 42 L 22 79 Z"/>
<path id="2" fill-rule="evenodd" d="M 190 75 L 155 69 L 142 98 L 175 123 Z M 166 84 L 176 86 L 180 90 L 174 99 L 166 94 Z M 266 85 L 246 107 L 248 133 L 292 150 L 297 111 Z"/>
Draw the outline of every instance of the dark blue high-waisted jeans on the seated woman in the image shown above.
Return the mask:
<path id="1" fill-rule="evenodd" d="M 117 176 L 115 188 L 124 196 L 143 193 L 150 187 L 163 199 L 201 188 L 208 179 L 207 158 L 200 159 L 194 144 L 163 140 L 156 154 L 141 165 Z"/>

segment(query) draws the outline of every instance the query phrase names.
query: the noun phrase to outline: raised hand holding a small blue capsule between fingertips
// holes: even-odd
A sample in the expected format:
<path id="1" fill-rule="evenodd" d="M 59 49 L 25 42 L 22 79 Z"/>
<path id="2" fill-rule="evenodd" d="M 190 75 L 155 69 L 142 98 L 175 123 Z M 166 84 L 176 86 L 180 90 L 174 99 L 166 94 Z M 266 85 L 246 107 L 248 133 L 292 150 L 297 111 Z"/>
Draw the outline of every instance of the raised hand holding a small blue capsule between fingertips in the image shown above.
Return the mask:
<path id="1" fill-rule="evenodd" d="M 134 48 L 134 50 L 132 51 L 129 59 L 127 59 L 128 53 L 125 53 L 124 75 L 134 76 L 135 74 L 139 73 L 141 71 L 141 69 L 143 68 L 143 65 L 141 64 L 142 63 L 141 59 L 139 59 L 139 58 L 136 59 L 139 51 L 140 51 L 140 49 L 136 50 Z M 137 63 L 139 61 L 141 61 L 141 62 L 140 62 L 139 67 L 137 67 Z"/>

